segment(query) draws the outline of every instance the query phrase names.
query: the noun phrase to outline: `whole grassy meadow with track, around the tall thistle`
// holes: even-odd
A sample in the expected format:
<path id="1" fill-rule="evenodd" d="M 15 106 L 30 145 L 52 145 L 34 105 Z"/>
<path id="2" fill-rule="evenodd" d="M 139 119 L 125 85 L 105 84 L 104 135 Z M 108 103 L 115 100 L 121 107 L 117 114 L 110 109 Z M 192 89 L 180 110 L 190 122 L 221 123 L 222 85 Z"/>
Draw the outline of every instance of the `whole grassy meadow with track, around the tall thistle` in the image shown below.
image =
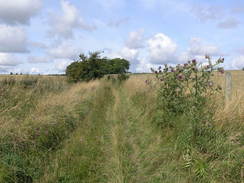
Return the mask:
<path id="1" fill-rule="evenodd" d="M 231 73 L 232 100 L 216 96 L 211 130 L 194 144 L 186 116 L 155 123 L 153 74 L 75 84 L 0 76 L 0 182 L 243 183 L 244 71 Z"/>

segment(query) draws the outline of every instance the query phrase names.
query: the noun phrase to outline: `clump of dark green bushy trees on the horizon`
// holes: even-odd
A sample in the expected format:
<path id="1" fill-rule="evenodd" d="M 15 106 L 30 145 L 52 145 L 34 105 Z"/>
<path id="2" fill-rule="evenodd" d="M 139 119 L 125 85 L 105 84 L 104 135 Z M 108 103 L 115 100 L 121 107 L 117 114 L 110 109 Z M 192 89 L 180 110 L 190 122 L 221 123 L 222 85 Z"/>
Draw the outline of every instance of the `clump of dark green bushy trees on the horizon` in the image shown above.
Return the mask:
<path id="1" fill-rule="evenodd" d="M 102 57 L 100 52 L 81 54 L 77 61 L 66 68 L 66 76 L 71 82 L 90 81 L 102 78 L 107 74 L 125 74 L 130 63 L 125 59 L 109 59 Z"/>

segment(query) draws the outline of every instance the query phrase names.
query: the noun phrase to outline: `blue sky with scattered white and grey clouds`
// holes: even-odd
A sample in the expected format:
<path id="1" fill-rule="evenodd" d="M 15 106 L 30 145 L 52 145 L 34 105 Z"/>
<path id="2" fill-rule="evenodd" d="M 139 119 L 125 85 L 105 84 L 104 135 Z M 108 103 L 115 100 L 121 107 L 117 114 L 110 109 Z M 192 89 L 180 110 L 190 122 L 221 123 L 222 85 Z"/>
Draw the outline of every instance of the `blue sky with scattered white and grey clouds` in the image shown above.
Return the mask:
<path id="1" fill-rule="evenodd" d="M 0 73 L 61 74 L 79 54 L 131 72 L 224 57 L 244 68 L 243 0 L 0 0 Z"/>

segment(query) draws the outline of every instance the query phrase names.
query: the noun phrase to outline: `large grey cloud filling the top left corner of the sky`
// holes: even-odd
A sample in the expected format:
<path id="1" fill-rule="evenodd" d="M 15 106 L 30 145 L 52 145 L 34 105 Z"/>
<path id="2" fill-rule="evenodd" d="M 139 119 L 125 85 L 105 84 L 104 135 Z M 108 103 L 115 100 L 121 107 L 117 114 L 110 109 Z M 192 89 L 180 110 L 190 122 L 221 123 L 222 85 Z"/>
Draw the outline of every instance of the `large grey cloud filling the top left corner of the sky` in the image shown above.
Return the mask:
<path id="1" fill-rule="evenodd" d="M 42 0 L 0 0 L 0 22 L 28 24 L 42 6 Z"/>

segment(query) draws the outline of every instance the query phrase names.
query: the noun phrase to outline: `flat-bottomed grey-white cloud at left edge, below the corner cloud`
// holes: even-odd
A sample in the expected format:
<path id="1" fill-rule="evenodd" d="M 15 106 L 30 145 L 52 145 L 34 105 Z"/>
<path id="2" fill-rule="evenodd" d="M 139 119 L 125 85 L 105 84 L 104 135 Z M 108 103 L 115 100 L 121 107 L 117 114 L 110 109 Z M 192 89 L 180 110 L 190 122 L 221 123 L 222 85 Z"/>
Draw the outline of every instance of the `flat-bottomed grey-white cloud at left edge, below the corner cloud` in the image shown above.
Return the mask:
<path id="1" fill-rule="evenodd" d="M 24 29 L 0 25 L 0 52 L 28 52 Z"/>

